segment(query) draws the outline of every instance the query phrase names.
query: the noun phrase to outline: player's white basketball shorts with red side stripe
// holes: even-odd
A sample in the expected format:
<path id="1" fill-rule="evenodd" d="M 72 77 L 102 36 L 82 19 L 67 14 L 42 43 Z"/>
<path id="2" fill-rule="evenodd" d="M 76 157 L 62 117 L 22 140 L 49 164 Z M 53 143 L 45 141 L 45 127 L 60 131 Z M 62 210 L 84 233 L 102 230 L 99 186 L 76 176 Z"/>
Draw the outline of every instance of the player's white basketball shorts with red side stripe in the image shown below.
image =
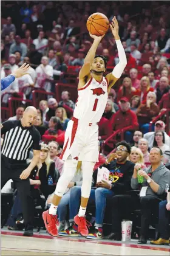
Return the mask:
<path id="1" fill-rule="evenodd" d="M 64 147 L 60 159 L 70 155 L 75 161 L 98 161 L 98 125 L 84 124 L 75 117 L 68 122 L 64 138 Z"/>

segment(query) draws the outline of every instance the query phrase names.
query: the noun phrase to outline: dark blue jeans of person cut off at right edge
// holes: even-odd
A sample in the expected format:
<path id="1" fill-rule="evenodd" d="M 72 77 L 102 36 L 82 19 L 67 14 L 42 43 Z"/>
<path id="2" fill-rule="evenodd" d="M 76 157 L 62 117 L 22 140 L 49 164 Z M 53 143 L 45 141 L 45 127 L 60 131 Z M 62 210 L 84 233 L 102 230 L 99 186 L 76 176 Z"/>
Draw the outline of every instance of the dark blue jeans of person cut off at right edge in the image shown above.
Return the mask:
<path id="1" fill-rule="evenodd" d="M 158 222 L 158 232 L 160 233 L 160 238 L 169 240 L 169 215 L 170 212 L 166 210 L 167 201 L 161 201 L 159 203 L 159 222 Z"/>

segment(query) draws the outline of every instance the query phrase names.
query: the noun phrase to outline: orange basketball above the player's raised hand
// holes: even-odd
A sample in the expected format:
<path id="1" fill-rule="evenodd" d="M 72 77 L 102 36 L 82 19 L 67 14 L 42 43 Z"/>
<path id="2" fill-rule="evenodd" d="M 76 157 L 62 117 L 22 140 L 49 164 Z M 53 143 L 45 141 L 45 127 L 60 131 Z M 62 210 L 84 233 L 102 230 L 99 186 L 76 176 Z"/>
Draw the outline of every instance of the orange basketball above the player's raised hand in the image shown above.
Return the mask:
<path id="1" fill-rule="evenodd" d="M 89 16 L 86 25 L 92 35 L 101 36 L 109 29 L 109 19 L 103 13 L 96 12 Z"/>

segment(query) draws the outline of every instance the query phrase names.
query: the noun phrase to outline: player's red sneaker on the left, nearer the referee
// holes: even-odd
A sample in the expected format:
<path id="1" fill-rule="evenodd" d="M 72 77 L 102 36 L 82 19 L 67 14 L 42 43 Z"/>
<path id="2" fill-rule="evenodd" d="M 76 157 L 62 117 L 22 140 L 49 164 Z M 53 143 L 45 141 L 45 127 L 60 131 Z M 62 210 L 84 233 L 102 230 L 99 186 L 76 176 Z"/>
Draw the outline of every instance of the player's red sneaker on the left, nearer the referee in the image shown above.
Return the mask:
<path id="1" fill-rule="evenodd" d="M 58 229 L 56 226 L 59 226 L 59 221 L 57 215 L 49 214 L 49 210 L 46 210 L 42 213 L 42 219 L 44 220 L 47 232 L 52 235 L 52 237 L 58 237 Z"/>

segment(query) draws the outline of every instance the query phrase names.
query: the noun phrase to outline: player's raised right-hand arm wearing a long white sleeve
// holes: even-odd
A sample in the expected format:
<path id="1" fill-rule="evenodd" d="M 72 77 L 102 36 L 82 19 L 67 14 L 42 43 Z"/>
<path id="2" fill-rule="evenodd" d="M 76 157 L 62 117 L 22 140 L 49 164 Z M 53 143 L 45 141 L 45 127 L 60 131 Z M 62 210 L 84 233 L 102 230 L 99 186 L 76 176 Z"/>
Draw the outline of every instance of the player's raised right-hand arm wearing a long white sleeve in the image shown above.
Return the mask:
<path id="1" fill-rule="evenodd" d="M 106 75 L 106 78 L 109 82 L 109 88 L 111 88 L 114 85 L 115 81 L 117 81 L 118 78 L 121 77 L 121 74 L 123 73 L 124 68 L 127 64 L 126 54 L 124 52 L 123 45 L 121 44 L 120 37 L 118 35 L 118 22 L 115 16 L 112 19 L 112 24 L 110 24 L 110 29 L 112 31 L 112 34 L 114 35 L 117 44 L 119 63 L 114 67 L 112 73 Z"/>

